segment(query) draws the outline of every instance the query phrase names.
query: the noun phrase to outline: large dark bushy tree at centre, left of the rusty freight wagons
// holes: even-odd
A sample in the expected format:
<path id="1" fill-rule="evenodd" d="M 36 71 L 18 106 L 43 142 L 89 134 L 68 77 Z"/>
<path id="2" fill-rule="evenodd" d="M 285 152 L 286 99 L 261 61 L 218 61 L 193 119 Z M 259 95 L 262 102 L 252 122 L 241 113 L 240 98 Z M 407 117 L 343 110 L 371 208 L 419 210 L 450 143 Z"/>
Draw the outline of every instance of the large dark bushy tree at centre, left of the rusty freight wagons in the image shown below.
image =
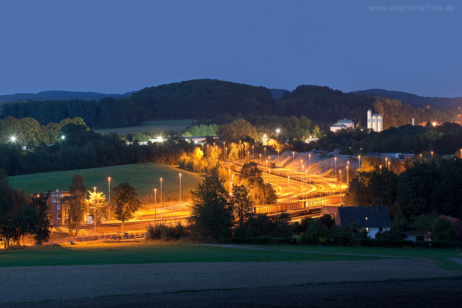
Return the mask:
<path id="1" fill-rule="evenodd" d="M 191 191 L 188 220 L 200 236 L 217 235 L 222 240 L 231 236 L 233 207 L 223 182 L 218 176 L 207 176 Z"/>

